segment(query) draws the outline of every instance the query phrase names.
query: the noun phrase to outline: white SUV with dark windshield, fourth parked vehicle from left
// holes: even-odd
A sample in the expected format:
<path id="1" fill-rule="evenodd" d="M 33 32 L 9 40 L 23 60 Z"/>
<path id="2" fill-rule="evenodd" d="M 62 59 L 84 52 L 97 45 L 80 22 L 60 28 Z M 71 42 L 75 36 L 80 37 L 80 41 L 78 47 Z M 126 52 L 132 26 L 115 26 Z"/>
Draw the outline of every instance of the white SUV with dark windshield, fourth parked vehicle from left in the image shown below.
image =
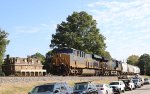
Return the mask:
<path id="1" fill-rule="evenodd" d="M 113 81 L 109 84 L 111 87 L 117 87 L 119 88 L 122 92 L 125 91 L 125 84 L 123 83 L 123 81 Z"/>

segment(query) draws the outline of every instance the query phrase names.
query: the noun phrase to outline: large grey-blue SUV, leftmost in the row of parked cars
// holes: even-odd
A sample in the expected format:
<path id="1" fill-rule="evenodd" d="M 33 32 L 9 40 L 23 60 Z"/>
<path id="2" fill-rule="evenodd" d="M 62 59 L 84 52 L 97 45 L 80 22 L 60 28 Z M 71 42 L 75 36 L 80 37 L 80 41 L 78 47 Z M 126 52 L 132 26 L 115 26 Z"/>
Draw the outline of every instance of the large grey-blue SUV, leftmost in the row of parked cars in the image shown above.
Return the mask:
<path id="1" fill-rule="evenodd" d="M 72 94 L 73 88 L 65 82 L 48 83 L 34 87 L 28 94 Z"/>

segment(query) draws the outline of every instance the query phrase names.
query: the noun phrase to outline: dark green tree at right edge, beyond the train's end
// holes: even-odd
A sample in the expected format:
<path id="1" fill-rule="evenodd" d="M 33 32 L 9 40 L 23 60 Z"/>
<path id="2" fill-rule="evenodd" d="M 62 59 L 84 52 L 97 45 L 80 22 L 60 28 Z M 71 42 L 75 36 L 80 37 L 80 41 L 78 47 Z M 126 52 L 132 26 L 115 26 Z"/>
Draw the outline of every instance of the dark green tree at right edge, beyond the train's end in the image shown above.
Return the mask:
<path id="1" fill-rule="evenodd" d="M 139 62 L 137 64 L 141 70 L 141 74 L 150 75 L 150 55 L 143 54 L 139 58 Z"/>

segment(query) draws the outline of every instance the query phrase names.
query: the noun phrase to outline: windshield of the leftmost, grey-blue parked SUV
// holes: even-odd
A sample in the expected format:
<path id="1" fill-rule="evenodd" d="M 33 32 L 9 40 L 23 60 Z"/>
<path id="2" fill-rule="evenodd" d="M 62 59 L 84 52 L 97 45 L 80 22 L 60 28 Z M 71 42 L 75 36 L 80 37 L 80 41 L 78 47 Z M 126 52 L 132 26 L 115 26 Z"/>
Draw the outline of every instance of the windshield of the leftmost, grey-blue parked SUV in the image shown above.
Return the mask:
<path id="1" fill-rule="evenodd" d="M 32 90 L 32 93 L 53 92 L 54 85 L 41 85 Z"/>

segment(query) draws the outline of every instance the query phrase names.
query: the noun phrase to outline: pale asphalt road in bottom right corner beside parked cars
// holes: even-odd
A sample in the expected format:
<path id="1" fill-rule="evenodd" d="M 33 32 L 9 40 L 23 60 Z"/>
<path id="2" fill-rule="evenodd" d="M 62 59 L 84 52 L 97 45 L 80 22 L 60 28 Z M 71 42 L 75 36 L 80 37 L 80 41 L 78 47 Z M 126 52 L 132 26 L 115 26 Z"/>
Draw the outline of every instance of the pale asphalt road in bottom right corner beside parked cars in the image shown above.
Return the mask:
<path id="1" fill-rule="evenodd" d="M 136 90 L 126 91 L 122 94 L 150 94 L 150 85 L 144 85 L 141 88 L 137 88 Z"/>

